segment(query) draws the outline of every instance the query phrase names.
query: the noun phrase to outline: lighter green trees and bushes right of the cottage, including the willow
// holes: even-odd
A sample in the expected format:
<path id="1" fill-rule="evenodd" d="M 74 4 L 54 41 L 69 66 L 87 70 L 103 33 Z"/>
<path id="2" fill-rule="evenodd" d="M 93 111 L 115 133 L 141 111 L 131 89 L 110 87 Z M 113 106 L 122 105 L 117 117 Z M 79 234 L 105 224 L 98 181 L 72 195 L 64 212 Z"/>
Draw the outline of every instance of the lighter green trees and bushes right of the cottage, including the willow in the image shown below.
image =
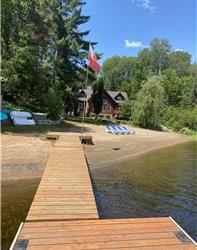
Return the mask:
<path id="1" fill-rule="evenodd" d="M 172 50 L 166 39 L 153 39 L 135 59 L 123 58 L 112 57 L 103 64 L 106 89 L 128 94 L 120 107 L 122 118 L 146 128 L 162 122 L 185 134 L 196 130 L 197 66 L 190 64 L 189 53 Z"/>

